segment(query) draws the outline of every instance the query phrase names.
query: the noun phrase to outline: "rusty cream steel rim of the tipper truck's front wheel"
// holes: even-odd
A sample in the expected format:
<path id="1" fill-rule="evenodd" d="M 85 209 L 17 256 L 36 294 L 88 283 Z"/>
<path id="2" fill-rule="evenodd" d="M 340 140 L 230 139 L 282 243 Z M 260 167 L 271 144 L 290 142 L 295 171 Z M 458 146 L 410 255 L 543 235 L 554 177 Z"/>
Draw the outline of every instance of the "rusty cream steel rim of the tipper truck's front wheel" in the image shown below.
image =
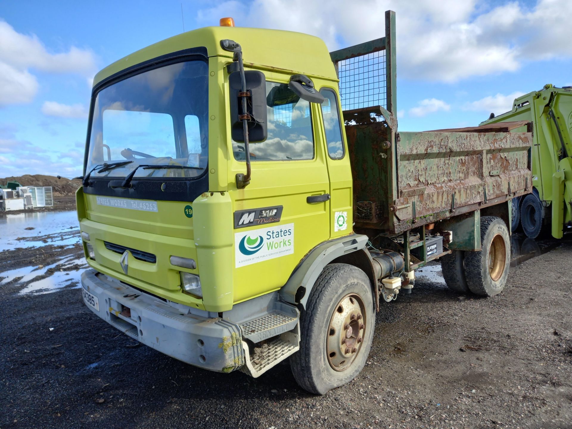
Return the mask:
<path id="1" fill-rule="evenodd" d="M 366 311 L 357 293 L 348 293 L 333 308 L 326 332 L 326 356 L 335 371 L 345 371 L 359 355 L 366 331 Z"/>

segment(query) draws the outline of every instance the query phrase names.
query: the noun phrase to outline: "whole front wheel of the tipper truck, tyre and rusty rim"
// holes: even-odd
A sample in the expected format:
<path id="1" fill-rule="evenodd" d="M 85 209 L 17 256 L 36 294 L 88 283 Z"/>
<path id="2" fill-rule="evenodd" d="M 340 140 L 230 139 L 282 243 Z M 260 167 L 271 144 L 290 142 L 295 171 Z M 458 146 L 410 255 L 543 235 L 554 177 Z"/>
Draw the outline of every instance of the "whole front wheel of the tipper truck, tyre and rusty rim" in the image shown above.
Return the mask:
<path id="1" fill-rule="evenodd" d="M 370 280 L 347 264 L 327 265 L 300 315 L 300 350 L 292 374 L 313 394 L 351 382 L 366 364 L 375 328 Z"/>

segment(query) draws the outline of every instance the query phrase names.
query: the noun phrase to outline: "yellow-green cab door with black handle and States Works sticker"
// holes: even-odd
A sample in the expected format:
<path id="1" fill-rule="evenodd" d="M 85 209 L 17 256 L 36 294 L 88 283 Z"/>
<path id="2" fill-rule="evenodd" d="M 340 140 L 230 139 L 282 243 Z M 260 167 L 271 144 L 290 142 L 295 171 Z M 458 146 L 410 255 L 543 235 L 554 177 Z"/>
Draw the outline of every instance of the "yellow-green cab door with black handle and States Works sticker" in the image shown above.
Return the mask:
<path id="1" fill-rule="evenodd" d="M 268 138 L 250 144 L 251 182 L 231 192 L 234 302 L 279 289 L 330 236 L 330 189 L 320 108 L 266 74 Z M 245 172 L 244 144 L 232 141 L 229 178 Z M 236 189 L 236 188 L 235 188 Z"/>

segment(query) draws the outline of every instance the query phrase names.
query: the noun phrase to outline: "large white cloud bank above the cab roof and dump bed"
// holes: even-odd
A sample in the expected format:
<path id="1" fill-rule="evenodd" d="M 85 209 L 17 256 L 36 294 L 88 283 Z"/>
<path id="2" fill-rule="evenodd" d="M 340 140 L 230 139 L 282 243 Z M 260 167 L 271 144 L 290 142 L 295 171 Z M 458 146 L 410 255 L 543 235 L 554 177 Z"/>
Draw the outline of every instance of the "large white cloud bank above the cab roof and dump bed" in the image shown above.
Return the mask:
<path id="1" fill-rule="evenodd" d="M 401 77 L 454 82 L 513 72 L 526 61 L 572 56 L 570 27 L 562 19 L 572 15 L 571 1 L 489 7 L 477 0 L 362 0 L 348 7 L 343 0 L 331 0 L 325 9 L 317 0 L 228 1 L 198 10 L 197 22 L 217 25 L 230 15 L 238 26 L 317 35 L 335 50 L 383 37 L 388 9 L 396 13 Z"/>

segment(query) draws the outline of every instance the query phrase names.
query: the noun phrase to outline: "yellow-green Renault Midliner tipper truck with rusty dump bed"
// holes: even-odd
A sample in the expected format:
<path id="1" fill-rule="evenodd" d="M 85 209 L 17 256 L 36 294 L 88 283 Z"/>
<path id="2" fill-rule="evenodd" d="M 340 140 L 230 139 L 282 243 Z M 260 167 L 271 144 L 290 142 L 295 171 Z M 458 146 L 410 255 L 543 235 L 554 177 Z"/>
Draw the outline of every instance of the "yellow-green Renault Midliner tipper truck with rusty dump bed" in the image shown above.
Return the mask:
<path id="1" fill-rule="evenodd" d="M 332 53 L 221 24 L 94 78 L 77 192 L 93 313 L 206 370 L 289 359 L 324 394 L 359 374 L 376 312 L 428 262 L 455 291 L 503 290 L 525 122 L 399 132 L 391 11 L 384 37 Z"/>

